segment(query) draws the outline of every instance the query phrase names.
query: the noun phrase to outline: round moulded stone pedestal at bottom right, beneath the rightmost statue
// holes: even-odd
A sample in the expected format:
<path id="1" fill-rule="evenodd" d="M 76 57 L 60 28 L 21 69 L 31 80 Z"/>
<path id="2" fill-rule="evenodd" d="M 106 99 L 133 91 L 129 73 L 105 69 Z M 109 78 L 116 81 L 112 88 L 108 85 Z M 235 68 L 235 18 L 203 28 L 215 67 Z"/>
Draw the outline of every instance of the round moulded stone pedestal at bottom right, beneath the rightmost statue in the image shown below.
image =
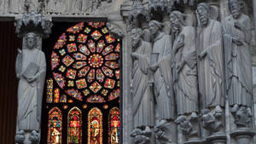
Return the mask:
<path id="1" fill-rule="evenodd" d="M 253 130 L 236 130 L 231 132 L 230 135 L 236 139 L 237 144 L 251 144 L 256 132 Z"/>

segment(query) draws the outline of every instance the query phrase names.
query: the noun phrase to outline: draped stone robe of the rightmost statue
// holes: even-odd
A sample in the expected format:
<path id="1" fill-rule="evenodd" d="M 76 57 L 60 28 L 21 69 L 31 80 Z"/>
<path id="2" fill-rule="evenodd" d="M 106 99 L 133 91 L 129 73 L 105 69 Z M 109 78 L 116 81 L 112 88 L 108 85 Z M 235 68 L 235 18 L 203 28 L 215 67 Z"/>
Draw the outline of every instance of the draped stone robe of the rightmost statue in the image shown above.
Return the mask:
<path id="1" fill-rule="evenodd" d="M 245 31 L 235 27 L 237 21 L 244 26 Z M 227 72 L 227 89 L 230 106 L 235 104 L 248 106 L 252 105 L 253 76 L 250 54 L 251 20 L 246 14 L 241 14 L 238 20 L 232 15 L 224 20 L 224 46 Z M 232 42 L 237 37 L 242 45 L 238 46 Z"/>

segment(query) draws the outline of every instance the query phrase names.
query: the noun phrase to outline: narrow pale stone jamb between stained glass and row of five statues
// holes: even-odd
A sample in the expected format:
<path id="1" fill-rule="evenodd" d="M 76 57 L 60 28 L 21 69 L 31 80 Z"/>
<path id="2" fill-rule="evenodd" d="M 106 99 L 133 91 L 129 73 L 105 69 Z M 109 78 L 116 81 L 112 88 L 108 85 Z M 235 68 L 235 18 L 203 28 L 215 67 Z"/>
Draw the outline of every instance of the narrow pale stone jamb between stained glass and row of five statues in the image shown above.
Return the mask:
<path id="1" fill-rule="evenodd" d="M 131 13 L 132 2 L 129 0 L 125 0 L 125 2 L 121 5 L 121 14 L 124 18 L 126 24 L 129 24 L 130 20 L 128 20 L 129 14 Z M 132 128 L 133 128 L 133 118 L 132 115 L 132 99 L 131 99 L 131 38 L 128 36 L 129 26 L 127 25 L 125 29 L 125 37 L 123 38 L 123 94 L 121 96 L 122 105 L 122 143 L 131 144 L 134 143 L 133 138 L 130 136 Z"/>

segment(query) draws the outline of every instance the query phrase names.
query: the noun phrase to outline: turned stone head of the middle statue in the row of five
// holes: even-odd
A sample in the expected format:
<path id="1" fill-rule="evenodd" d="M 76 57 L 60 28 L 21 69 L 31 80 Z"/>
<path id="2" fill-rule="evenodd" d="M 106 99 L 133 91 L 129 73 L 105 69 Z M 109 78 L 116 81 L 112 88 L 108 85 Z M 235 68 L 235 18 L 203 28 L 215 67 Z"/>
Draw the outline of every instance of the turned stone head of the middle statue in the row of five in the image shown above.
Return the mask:
<path id="1" fill-rule="evenodd" d="M 185 26 L 185 14 L 179 12 L 179 11 L 172 11 L 170 14 L 170 20 L 172 25 L 172 31 L 173 32 L 180 32 L 182 26 Z"/>

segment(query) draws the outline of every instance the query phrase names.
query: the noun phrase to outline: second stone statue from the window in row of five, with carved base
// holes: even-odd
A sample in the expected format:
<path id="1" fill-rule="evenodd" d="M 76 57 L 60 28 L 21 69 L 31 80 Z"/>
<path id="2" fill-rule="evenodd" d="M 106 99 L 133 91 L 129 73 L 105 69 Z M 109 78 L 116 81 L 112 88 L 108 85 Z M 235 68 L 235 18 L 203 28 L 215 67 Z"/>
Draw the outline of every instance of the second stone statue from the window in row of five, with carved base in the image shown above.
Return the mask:
<path id="1" fill-rule="evenodd" d="M 163 24 L 156 20 L 149 22 L 149 29 L 153 39 L 153 50 L 150 56 L 150 70 L 152 78 L 150 84 L 154 89 L 154 98 L 156 100 L 156 121 L 157 128 L 161 135 L 156 138 L 161 143 L 170 143 L 176 141 L 177 125 L 174 124 L 176 109 L 174 104 L 173 83 L 172 83 L 172 41 L 171 36 L 161 32 Z M 165 129 L 160 129 L 160 128 Z M 169 131 L 172 131 L 170 133 Z M 163 136 L 165 135 L 165 136 Z M 168 137 L 168 141 L 164 140 Z"/>

